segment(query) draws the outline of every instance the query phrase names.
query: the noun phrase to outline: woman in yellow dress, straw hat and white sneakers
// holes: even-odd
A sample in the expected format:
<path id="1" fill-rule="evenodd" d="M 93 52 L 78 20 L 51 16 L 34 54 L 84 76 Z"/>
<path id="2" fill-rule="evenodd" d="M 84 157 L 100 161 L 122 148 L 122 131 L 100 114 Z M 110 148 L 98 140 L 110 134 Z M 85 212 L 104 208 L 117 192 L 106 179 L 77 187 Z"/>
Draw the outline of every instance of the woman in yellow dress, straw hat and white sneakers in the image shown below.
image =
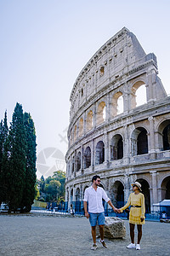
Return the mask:
<path id="1" fill-rule="evenodd" d="M 144 224 L 144 195 L 140 193 L 142 191 L 141 184 L 139 182 L 135 182 L 131 184 L 133 186 L 133 193 L 129 195 L 127 204 L 118 209 L 118 212 L 122 212 L 123 210 L 127 209 L 127 207 L 131 206 L 130 214 L 129 214 L 129 225 L 130 225 L 130 237 L 131 243 L 127 246 L 128 249 L 136 248 L 140 250 L 140 240 L 142 237 L 142 224 Z M 134 243 L 134 227 L 137 224 L 138 228 L 138 243 L 135 246 Z"/>

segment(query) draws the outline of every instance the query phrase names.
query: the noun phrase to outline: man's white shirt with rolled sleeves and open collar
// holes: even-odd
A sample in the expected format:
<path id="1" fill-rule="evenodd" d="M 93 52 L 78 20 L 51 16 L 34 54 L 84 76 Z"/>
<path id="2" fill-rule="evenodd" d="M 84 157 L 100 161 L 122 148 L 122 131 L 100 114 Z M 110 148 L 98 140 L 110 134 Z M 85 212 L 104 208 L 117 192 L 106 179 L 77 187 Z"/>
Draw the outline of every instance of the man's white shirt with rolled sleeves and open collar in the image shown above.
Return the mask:
<path id="1" fill-rule="evenodd" d="M 106 202 L 110 201 L 109 197 L 105 193 L 105 190 L 101 187 L 97 187 L 97 190 L 95 190 L 93 186 L 91 186 L 85 190 L 83 201 L 88 201 L 88 212 L 105 212 L 102 199 L 104 199 Z"/>

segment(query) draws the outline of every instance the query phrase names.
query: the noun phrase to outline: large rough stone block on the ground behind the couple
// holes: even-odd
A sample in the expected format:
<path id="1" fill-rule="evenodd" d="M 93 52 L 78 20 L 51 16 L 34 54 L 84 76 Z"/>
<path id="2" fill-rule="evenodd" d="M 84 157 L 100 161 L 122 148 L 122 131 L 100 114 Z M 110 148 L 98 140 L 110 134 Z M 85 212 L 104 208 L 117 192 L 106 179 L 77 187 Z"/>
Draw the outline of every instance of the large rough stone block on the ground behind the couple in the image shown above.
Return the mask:
<path id="1" fill-rule="evenodd" d="M 99 226 L 96 227 L 96 236 L 99 237 Z M 117 217 L 105 217 L 105 237 L 106 238 L 122 238 L 126 236 L 126 228 L 124 221 Z"/>

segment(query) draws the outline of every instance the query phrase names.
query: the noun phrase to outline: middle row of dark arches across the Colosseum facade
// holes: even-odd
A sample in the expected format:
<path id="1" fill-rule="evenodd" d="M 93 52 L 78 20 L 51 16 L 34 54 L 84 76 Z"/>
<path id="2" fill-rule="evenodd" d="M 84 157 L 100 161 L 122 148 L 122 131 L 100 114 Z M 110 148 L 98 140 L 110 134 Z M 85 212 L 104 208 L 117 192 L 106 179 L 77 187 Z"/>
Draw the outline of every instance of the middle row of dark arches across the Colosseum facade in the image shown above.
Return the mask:
<path id="1" fill-rule="evenodd" d="M 166 126 L 165 126 L 166 125 Z M 162 124 L 161 124 L 162 126 Z M 164 129 L 160 132 L 161 134 L 161 149 L 170 149 L 170 120 L 164 122 Z M 148 132 L 144 127 L 136 128 L 131 136 L 131 155 L 148 154 Z M 110 158 L 109 160 L 120 160 L 124 155 L 124 139 L 121 134 L 116 134 L 111 138 L 110 144 Z M 99 141 L 94 150 L 94 165 L 97 166 L 105 162 L 105 143 Z M 85 148 L 83 155 L 81 151 L 78 151 L 76 157 L 73 155 L 71 160 L 68 160 L 68 171 L 70 173 L 70 166 L 72 173 L 78 172 L 81 168 L 86 169 L 92 166 L 92 149 L 90 146 Z"/>

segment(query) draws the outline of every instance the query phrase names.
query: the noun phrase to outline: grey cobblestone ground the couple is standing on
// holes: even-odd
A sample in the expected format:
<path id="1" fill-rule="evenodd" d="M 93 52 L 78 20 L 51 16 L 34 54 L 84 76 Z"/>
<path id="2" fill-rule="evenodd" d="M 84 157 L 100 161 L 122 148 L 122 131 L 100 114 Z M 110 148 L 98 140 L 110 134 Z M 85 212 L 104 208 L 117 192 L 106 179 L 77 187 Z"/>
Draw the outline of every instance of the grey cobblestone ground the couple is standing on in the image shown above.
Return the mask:
<path id="1" fill-rule="evenodd" d="M 0 255 L 170 255 L 170 224 L 146 222 L 140 251 L 126 248 L 130 242 L 127 220 L 125 225 L 125 238 L 105 239 L 108 249 L 101 247 L 98 240 L 98 249 L 92 251 L 90 225 L 85 217 L 0 215 Z"/>

